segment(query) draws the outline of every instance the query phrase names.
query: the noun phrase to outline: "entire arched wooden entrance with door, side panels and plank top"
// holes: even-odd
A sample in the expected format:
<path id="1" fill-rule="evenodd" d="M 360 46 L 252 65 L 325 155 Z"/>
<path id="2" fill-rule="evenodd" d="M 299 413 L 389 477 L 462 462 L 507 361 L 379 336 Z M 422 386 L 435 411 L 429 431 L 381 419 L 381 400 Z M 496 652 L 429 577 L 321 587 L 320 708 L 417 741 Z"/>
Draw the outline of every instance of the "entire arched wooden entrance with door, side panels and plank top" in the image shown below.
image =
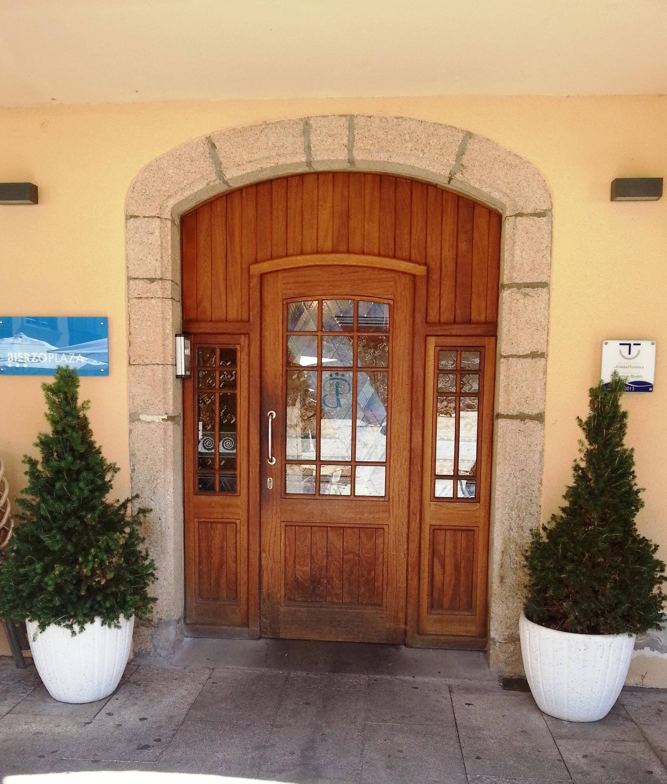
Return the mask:
<path id="1" fill-rule="evenodd" d="M 187 633 L 484 647 L 500 227 L 347 172 L 183 217 Z"/>

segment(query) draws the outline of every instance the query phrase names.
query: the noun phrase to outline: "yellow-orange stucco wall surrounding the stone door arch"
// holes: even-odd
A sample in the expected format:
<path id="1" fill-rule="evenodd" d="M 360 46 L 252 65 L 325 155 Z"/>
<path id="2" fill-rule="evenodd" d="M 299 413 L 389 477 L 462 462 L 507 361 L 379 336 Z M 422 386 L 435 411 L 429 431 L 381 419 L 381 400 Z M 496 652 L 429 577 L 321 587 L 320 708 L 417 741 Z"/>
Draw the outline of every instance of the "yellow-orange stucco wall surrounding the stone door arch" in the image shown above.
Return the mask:
<path id="1" fill-rule="evenodd" d="M 0 206 L 0 314 L 107 315 L 111 372 L 82 379 L 91 421 L 129 492 L 124 204 L 151 159 L 216 129 L 305 114 L 400 114 L 489 136 L 535 164 L 553 196 L 553 266 L 543 516 L 575 457 L 577 414 L 600 372 L 604 338 L 658 341 L 656 390 L 628 395 L 629 444 L 647 488 L 641 532 L 667 558 L 667 197 L 609 201 L 616 176 L 667 175 L 667 97 L 403 98 L 164 103 L 0 110 L 0 181 L 39 186 L 39 205 Z M 664 378 L 663 378 L 664 376 Z M 44 424 L 34 377 L 0 379 L 0 454 L 16 492 L 20 458 Z M 4 641 L 0 639 L 0 654 Z M 653 657 L 645 684 L 667 686 Z"/>

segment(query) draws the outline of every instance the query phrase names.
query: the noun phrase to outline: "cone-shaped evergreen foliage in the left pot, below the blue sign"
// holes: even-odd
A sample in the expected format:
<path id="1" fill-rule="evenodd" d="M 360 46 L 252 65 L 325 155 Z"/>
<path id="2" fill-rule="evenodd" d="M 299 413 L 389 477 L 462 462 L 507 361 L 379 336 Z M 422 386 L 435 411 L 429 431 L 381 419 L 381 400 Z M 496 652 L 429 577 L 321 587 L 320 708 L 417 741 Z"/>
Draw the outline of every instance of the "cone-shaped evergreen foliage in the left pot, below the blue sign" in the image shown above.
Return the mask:
<path id="1" fill-rule="evenodd" d="M 78 387 L 77 372 L 62 367 L 42 384 L 51 432 L 35 442 L 39 461 L 24 456 L 20 525 L 0 566 L 0 615 L 72 634 L 96 617 L 115 627 L 121 615 L 149 618 L 156 579 L 139 532 L 150 510 L 132 514 L 133 498 L 107 499 L 119 469 L 93 440 Z"/>

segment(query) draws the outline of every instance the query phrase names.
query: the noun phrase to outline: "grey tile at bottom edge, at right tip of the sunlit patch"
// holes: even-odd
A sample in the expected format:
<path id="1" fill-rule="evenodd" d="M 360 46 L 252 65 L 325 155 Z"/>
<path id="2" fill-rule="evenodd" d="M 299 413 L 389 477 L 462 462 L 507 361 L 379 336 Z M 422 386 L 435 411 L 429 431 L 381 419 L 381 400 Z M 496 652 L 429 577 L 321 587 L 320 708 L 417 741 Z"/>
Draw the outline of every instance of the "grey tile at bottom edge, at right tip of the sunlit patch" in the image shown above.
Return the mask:
<path id="1" fill-rule="evenodd" d="M 263 751 L 257 778 L 293 784 L 361 782 L 364 728 L 348 724 L 280 724 Z"/>

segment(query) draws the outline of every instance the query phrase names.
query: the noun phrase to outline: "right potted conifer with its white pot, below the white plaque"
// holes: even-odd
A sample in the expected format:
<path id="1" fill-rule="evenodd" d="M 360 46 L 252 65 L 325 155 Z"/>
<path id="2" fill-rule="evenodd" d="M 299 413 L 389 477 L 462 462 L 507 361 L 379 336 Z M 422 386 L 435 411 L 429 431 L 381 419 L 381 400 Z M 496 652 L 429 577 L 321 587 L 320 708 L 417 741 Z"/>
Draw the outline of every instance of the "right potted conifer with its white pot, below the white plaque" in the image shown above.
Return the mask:
<path id="1" fill-rule="evenodd" d="M 643 500 L 633 449 L 624 445 L 624 391 L 616 374 L 608 387 L 589 390 L 589 416 L 577 418 L 585 441 L 565 504 L 542 532 L 532 532 L 524 554 L 524 670 L 540 709 L 569 721 L 607 715 L 636 635 L 663 619 L 665 564 L 635 524 Z"/>

